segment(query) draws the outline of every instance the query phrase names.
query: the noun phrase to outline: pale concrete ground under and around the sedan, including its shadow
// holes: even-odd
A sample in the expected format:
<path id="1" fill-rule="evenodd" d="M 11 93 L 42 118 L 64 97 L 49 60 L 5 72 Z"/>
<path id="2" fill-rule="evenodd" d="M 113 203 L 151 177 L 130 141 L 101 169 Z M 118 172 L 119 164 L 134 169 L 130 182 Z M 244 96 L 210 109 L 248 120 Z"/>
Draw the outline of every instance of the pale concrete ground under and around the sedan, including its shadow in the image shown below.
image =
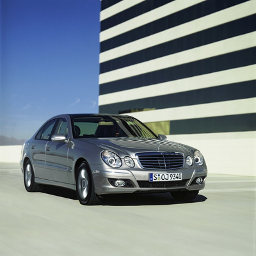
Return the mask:
<path id="1" fill-rule="evenodd" d="M 0 163 L 0 255 L 255 255 L 256 178 L 209 175 L 191 203 L 170 193 L 80 205 L 76 193 L 28 193 L 19 164 Z"/>

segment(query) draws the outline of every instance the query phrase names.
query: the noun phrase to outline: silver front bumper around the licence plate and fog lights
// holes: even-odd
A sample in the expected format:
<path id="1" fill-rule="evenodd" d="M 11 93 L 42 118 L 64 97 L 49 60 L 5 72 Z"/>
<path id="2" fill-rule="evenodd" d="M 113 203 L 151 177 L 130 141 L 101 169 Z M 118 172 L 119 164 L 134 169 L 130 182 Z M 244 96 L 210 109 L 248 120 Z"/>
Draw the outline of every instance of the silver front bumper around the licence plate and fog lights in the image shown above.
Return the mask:
<path id="1" fill-rule="evenodd" d="M 91 166 L 92 167 L 92 166 Z M 99 166 L 98 166 L 99 167 Z M 149 173 L 182 173 L 182 180 L 149 182 Z M 178 170 L 122 170 L 111 168 L 92 170 L 95 193 L 98 195 L 118 193 L 161 193 L 167 191 L 201 190 L 205 187 L 207 177 L 206 168 L 182 168 Z M 195 179 L 202 177 L 203 182 L 196 184 Z M 118 188 L 114 185 L 115 180 L 124 180 L 127 186 Z"/>

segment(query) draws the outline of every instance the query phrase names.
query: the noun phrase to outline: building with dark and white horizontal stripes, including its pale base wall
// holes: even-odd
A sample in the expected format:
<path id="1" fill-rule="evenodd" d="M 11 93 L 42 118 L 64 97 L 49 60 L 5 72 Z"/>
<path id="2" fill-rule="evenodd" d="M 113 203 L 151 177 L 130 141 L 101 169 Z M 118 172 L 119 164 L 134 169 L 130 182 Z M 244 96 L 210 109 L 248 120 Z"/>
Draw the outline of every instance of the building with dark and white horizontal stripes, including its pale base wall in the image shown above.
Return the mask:
<path id="1" fill-rule="evenodd" d="M 100 113 L 256 175 L 256 0 L 102 0 Z"/>

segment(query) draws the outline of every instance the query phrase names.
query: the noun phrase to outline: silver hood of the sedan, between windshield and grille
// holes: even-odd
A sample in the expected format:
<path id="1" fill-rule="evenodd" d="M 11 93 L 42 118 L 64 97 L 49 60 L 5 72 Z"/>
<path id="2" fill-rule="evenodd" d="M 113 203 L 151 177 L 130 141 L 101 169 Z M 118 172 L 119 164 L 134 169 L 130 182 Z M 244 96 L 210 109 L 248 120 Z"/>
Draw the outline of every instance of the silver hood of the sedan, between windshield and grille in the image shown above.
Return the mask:
<path id="1" fill-rule="evenodd" d="M 145 139 L 145 138 L 90 138 L 82 139 L 102 150 L 111 150 L 121 157 L 135 157 L 140 152 L 180 152 L 185 156 L 193 155 L 195 148 L 168 140 Z"/>

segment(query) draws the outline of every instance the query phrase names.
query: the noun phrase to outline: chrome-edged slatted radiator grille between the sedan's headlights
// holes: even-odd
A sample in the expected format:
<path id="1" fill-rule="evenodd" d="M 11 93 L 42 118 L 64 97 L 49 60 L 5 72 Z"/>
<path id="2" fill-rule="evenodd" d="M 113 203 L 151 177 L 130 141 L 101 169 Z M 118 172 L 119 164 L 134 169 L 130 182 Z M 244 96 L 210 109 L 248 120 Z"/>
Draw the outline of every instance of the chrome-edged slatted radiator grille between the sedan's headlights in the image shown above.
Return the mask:
<path id="1" fill-rule="evenodd" d="M 172 152 L 138 153 L 136 157 L 145 169 L 173 170 L 182 168 L 184 155 Z"/>

